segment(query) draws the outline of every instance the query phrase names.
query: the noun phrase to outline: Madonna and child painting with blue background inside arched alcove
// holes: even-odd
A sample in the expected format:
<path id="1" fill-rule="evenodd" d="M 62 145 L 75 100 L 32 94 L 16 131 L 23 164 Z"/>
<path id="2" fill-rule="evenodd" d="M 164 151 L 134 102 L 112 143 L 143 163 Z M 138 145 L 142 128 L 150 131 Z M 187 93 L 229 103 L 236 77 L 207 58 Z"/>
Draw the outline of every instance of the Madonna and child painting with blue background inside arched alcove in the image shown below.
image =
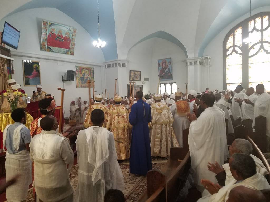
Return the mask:
<path id="1" fill-rule="evenodd" d="M 157 60 L 158 64 L 158 75 L 160 81 L 170 81 L 173 80 L 173 67 L 171 65 L 171 58 L 165 58 Z"/>

